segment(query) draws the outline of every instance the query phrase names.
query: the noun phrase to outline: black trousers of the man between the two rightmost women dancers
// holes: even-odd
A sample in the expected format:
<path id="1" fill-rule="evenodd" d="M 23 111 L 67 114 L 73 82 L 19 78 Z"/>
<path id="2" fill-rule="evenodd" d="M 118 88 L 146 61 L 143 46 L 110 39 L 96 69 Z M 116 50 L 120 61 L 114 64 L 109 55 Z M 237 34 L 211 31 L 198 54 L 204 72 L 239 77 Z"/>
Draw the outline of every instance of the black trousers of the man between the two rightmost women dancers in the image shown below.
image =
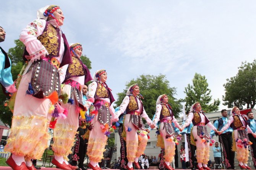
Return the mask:
<path id="1" fill-rule="evenodd" d="M 226 132 L 219 136 L 219 142 L 222 145 L 224 164 L 226 168 L 235 168 L 235 152 L 232 151 L 233 138 L 232 133 Z"/>

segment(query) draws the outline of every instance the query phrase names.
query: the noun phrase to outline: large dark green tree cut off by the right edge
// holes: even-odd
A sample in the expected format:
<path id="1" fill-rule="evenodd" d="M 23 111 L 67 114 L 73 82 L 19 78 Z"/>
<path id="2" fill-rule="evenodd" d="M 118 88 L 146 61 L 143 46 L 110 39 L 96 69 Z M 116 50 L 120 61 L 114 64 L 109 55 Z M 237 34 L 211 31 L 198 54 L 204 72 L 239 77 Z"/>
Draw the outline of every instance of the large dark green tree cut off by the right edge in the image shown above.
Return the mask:
<path id="1" fill-rule="evenodd" d="M 227 79 L 224 85 L 225 96 L 222 96 L 224 105 L 228 107 L 243 106 L 254 108 L 256 104 L 256 60 L 246 61 L 238 67 L 236 76 Z"/>

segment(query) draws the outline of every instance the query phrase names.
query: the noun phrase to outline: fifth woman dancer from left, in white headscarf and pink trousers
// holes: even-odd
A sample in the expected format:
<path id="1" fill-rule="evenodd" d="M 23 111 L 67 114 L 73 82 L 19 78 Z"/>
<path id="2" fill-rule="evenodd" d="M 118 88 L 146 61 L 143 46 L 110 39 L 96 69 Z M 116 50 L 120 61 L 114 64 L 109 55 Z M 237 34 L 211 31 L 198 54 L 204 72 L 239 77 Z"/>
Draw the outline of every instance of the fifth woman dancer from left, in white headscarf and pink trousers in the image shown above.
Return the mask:
<path id="1" fill-rule="evenodd" d="M 177 135 L 172 126 L 172 122 L 175 124 L 177 128 L 180 128 L 179 123 L 175 119 L 172 107 L 168 104 L 168 97 L 167 95 L 163 94 L 157 98 L 156 102 L 156 116 L 153 120 L 154 125 L 160 121 L 159 131 L 161 137 L 164 140 L 164 151 L 165 151 L 165 162 L 164 166 L 168 170 L 174 170 L 170 166 L 170 162 L 172 162 L 174 155 L 175 155 L 175 141 L 177 142 Z"/>

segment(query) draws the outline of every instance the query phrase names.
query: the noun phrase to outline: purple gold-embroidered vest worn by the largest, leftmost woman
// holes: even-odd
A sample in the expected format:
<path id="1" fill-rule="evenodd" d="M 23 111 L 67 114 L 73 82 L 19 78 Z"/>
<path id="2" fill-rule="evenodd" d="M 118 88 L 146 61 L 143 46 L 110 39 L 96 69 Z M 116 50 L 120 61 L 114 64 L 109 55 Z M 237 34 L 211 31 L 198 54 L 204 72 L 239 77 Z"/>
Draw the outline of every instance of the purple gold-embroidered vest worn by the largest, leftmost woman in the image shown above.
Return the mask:
<path id="1" fill-rule="evenodd" d="M 66 40 L 66 37 L 64 34 L 62 34 L 62 38 L 64 40 L 64 46 L 65 46 L 65 51 L 64 55 L 62 58 L 62 63 L 60 63 L 60 67 L 72 63 L 71 60 L 71 54 L 68 46 L 68 42 Z M 41 35 L 37 37 L 37 40 L 39 40 L 42 45 L 46 48 L 48 51 L 49 55 L 47 55 L 49 58 L 52 57 L 58 57 L 60 54 L 60 29 L 55 28 L 52 26 L 52 24 L 49 24 L 48 21 L 46 21 L 46 25 L 44 28 L 44 31 L 42 32 Z M 24 61 L 28 61 L 25 56 L 28 56 L 29 53 L 26 50 L 26 47 L 24 49 L 24 54 L 23 54 L 23 59 Z"/>

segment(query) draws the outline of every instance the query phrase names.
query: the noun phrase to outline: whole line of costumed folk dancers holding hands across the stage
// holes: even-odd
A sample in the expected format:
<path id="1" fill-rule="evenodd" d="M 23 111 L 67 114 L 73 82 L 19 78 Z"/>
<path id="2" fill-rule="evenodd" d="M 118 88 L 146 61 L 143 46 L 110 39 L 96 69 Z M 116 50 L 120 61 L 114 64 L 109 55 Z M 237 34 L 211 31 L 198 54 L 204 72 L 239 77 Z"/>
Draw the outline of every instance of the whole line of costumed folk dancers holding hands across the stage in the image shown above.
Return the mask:
<path id="1" fill-rule="evenodd" d="M 256 155 L 255 121 L 247 122 L 240 110 L 234 107 L 228 120 L 226 116 L 223 120 L 218 120 L 219 124 L 212 125 L 202 111 L 200 103 L 196 102 L 191 106 L 188 119 L 180 126 L 165 94 L 157 98 L 156 115 L 151 120 L 143 107 L 143 96 L 139 93 L 138 84 L 127 89 L 122 104 L 118 109 L 114 109 L 115 99 L 106 83 L 106 70 L 97 70 L 93 77 L 91 76 L 80 59 L 82 45 L 68 44 L 60 27 L 63 22 L 63 12 L 57 5 L 45 6 L 37 11 L 37 19 L 30 22 L 20 34 L 20 40 L 26 46 L 23 55 L 26 64 L 14 83 L 11 81 L 10 59 L 1 48 L 0 55 L 3 56 L 4 66 L 1 76 L 2 80 L 6 80 L 1 82 L 1 85 L 6 94 L 12 94 L 9 107 L 13 118 L 5 151 L 11 152 L 6 163 L 13 170 L 35 170 L 31 159 L 40 159 L 48 147 L 49 127 L 53 129 L 52 163 L 56 167 L 63 170 L 84 170 L 82 160 L 87 152 L 90 160 L 88 166 L 92 170 L 101 170 L 99 162 L 103 158 L 107 138 L 118 125 L 121 125 L 118 133 L 123 143 L 120 166 L 133 170 L 134 163 L 139 169 L 138 160 L 144 153 L 149 138 L 149 130 L 144 127 L 142 118 L 151 128 L 158 127 L 157 143 L 164 149 L 163 165 L 168 170 L 173 170 L 170 162 L 175 155 L 175 143 L 181 140 L 180 135 L 176 133 L 177 129 L 180 132 L 186 129 L 191 158 L 195 150 L 195 147 L 192 149 L 192 144 L 196 146 L 196 166 L 199 170 L 209 170 L 209 145 L 214 143 L 214 133 L 220 135 L 220 142 L 225 148 L 226 166 L 234 167 L 233 162 L 228 160 L 229 155 L 233 154 L 229 153 L 231 147 L 227 148 L 225 144 L 231 143 L 232 132 L 235 143 L 233 148 L 236 148 L 239 166 L 250 169 L 247 165 L 248 146 L 252 142 L 252 153 Z M 4 32 L 2 27 L 0 31 Z M 5 32 L 1 35 L 5 35 Z M 4 38 L 5 36 L 2 37 L 3 40 Z M 92 82 L 88 86 L 87 95 L 83 95 L 82 88 L 87 88 L 84 85 L 89 81 Z M 117 122 L 116 126 L 113 125 L 114 122 Z M 211 128 L 211 134 L 207 132 L 206 125 Z M 71 153 L 75 135 L 79 141 L 76 143 L 72 159 L 79 161 L 78 167 L 69 164 L 67 158 Z M 83 141 L 86 138 L 87 147 Z M 79 153 L 80 144 L 83 145 L 83 154 Z M 195 168 L 192 162 L 193 159 L 190 161 L 190 167 Z"/>

